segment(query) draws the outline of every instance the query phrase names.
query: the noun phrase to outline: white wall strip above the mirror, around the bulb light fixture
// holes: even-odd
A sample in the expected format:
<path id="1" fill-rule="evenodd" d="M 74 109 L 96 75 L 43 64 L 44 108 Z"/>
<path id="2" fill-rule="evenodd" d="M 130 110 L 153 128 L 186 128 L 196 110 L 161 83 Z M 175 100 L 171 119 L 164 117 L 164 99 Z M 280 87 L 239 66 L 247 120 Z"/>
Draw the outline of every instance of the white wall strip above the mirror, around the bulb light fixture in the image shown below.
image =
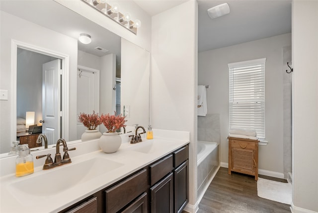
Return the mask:
<path id="1" fill-rule="evenodd" d="M 94 21 L 100 26 L 111 32 L 125 38 L 128 41 L 141 46 L 148 51 L 151 49 L 151 16 L 141 9 L 133 0 L 112 0 L 111 3 L 117 2 L 120 6 L 121 13 L 130 12 L 132 20 L 139 19 L 142 26 L 137 30 L 137 35 L 125 29 L 125 27 L 116 23 L 111 18 L 106 17 L 101 12 L 87 5 L 82 0 L 55 0 L 62 5 L 74 10 L 80 15 Z M 108 1 L 108 3 L 110 3 Z"/>

